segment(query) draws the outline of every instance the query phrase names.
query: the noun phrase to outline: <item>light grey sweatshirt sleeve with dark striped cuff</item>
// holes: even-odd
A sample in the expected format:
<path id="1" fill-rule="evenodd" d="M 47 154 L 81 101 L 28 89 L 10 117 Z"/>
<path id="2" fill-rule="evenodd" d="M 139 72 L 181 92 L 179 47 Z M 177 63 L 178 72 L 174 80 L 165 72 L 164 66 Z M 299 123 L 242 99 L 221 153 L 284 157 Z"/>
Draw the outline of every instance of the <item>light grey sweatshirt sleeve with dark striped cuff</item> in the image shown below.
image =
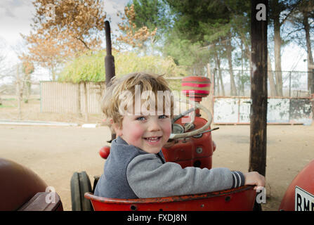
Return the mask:
<path id="1" fill-rule="evenodd" d="M 207 193 L 244 185 L 241 172 L 227 168 L 183 169 L 174 162 L 163 164 L 154 154 L 133 158 L 126 169 L 126 177 L 138 198 Z"/>

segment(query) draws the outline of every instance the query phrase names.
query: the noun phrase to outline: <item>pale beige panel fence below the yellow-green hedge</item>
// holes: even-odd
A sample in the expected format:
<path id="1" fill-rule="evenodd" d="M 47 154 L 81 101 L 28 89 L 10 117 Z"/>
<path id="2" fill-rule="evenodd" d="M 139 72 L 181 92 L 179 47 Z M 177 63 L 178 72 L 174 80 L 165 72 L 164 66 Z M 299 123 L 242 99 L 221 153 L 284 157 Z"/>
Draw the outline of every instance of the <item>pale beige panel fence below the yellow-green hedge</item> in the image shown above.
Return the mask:
<path id="1" fill-rule="evenodd" d="M 79 106 L 85 112 L 84 83 L 41 82 L 40 86 L 42 113 L 79 113 Z M 105 82 L 86 82 L 88 113 L 101 113 L 104 90 Z"/>

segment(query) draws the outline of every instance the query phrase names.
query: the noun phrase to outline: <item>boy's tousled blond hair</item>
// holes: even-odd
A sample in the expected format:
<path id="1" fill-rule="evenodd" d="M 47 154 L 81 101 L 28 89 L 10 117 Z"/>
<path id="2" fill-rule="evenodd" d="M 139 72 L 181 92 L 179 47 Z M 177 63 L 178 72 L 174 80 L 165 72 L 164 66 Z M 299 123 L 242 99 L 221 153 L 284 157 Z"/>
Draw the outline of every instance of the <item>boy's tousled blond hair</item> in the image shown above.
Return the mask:
<path id="1" fill-rule="evenodd" d="M 152 91 L 155 94 L 155 102 L 157 103 L 157 91 L 169 91 L 171 89 L 162 75 L 149 74 L 145 72 L 134 72 L 129 75 L 124 75 L 121 78 L 113 77 L 110 81 L 110 86 L 106 89 L 103 96 L 102 110 L 107 120 L 111 120 L 119 127 L 122 127 L 123 116 L 119 113 L 119 107 L 122 103 L 119 94 L 123 91 L 131 91 L 133 96 L 133 104 L 135 102 L 136 85 L 140 86 L 140 94 L 143 91 Z M 165 103 L 163 102 L 163 110 Z M 173 113 L 174 101 L 171 98 L 170 112 Z"/>

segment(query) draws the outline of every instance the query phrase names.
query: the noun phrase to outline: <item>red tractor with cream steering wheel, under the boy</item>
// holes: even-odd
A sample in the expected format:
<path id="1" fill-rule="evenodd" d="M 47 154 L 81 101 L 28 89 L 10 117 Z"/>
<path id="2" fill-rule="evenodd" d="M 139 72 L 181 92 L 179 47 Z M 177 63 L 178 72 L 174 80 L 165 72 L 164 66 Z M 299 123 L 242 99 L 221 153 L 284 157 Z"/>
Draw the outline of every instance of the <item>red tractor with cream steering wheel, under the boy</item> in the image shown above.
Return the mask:
<path id="1" fill-rule="evenodd" d="M 174 146 L 162 148 L 162 152 L 167 162 L 176 162 L 183 168 L 206 167 L 211 169 L 211 157 L 216 149 L 214 141 L 211 139 L 213 129 L 211 129 L 210 124 L 212 117 L 209 110 L 199 104 L 202 97 L 209 94 L 210 80 L 207 77 L 185 77 L 182 85 L 184 93 L 190 98 L 195 108 L 174 117 L 172 120 L 173 133 L 170 135 L 170 139 L 175 140 Z M 199 114 L 200 109 L 207 114 L 209 120 L 201 117 Z M 195 113 L 195 117 L 189 117 L 188 114 L 190 113 Z M 190 120 L 186 120 L 188 118 Z M 109 154 L 109 146 L 100 149 L 100 155 L 103 158 L 107 158 Z M 97 181 L 96 178 L 93 184 L 94 187 Z M 244 186 L 202 195 L 112 199 L 93 195 L 90 183 L 85 172 L 75 173 L 72 176 L 72 210 L 91 210 L 88 200 L 91 200 L 94 210 L 252 210 L 256 195 L 256 191 L 253 190 L 252 186 Z M 84 191 L 81 192 L 81 190 Z M 88 207 L 85 207 L 86 205 Z"/>

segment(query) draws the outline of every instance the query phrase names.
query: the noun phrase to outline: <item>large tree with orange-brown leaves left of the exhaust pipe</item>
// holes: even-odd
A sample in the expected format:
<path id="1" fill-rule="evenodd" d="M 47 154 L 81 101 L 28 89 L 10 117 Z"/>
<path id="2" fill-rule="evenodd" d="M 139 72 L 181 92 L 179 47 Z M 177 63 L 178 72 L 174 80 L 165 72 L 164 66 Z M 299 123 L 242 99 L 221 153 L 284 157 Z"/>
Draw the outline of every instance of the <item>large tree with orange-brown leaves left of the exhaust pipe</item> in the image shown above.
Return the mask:
<path id="1" fill-rule="evenodd" d="M 53 4 L 52 4 L 53 2 Z M 101 48 L 106 14 L 100 0 L 35 0 L 32 32 L 22 35 L 28 51 L 23 62 L 47 68 L 56 80 L 58 68 L 67 58 Z M 49 17 L 49 7 L 53 11 Z"/>

